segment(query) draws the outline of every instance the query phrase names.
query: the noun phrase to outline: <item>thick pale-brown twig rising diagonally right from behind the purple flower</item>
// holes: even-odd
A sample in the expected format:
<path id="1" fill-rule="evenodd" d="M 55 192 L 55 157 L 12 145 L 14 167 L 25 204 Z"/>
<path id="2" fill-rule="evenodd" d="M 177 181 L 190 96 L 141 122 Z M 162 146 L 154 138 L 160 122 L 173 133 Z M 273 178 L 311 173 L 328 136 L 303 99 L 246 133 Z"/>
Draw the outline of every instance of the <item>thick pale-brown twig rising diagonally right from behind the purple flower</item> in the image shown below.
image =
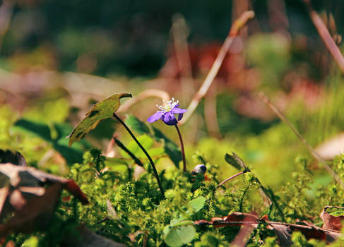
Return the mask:
<path id="1" fill-rule="evenodd" d="M 223 59 L 225 59 L 225 56 L 228 50 L 230 49 L 230 46 L 232 45 L 235 36 L 237 36 L 239 30 L 242 27 L 244 27 L 244 25 L 246 25 L 247 21 L 253 17 L 253 11 L 245 11 L 237 20 L 235 20 L 235 23 L 233 23 L 232 28 L 230 28 L 230 33 L 227 35 L 225 42 L 223 42 L 223 46 L 221 47 L 220 52 L 218 53 L 218 56 L 216 57 L 213 63 L 213 66 L 210 68 L 206 80 L 204 80 L 201 88 L 194 95 L 191 103 L 189 104 L 187 112 L 184 114 L 184 118 L 181 121 L 179 121 L 179 124 L 184 124 L 189 119 L 191 114 L 194 113 L 196 107 L 198 106 L 198 103 L 204 97 L 204 95 L 206 95 L 206 92 L 208 92 L 211 83 L 213 83 L 215 76 L 218 74 L 220 66 L 223 63 Z"/>

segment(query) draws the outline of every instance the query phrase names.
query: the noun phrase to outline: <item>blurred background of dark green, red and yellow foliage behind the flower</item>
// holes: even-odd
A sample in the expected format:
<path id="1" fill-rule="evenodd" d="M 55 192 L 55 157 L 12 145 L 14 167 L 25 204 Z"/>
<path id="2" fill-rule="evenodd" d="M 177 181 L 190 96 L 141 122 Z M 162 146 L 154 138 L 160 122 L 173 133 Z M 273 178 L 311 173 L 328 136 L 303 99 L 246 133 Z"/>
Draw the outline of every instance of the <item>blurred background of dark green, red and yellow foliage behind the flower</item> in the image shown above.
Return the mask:
<path id="1" fill-rule="evenodd" d="M 342 49 L 344 3 L 312 1 L 312 6 Z M 64 136 L 97 100 L 155 89 L 186 108 L 231 24 L 248 10 L 254 19 L 235 38 L 205 99 L 182 126 L 189 168 L 196 151 L 223 165 L 225 153 L 233 150 L 269 186 L 290 179 L 297 171 L 295 158 L 309 154 L 259 99 L 261 91 L 332 159 L 344 150 L 343 76 L 302 0 L 1 1 L 1 148 L 20 150 L 30 164 L 64 173 L 85 148 L 106 152 L 117 131 L 114 121 L 104 121 L 75 144 L 71 157 L 64 155 Z M 145 121 L 155 104 L 161 99 L 148 97 L 125 113 Z M 177 142 L 162 123 L 155 126 Z M 331 138 L 340 144 L 331 146 Z M 225 167 L 223 177 L 233 171 Z M 314 187 L 331 181 L 322 169 L 316 171 Z"/>

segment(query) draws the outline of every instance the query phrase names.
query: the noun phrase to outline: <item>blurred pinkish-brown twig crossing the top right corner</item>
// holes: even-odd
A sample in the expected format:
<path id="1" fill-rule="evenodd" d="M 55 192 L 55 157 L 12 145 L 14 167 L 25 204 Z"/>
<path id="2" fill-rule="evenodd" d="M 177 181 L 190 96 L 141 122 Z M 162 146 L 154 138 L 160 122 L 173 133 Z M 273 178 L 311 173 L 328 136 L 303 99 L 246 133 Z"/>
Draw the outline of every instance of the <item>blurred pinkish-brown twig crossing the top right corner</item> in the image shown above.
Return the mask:
<path id="1" fill-rule="evenodd" d="M 323 20 L 321 20 L 321 17 L 312 8 L 310 1 L 309 0 L 303 0 L 303 1 L 304 1 L 304 4 L 306 4 L 308 8 L 309 17 L 311 18 L 313 24 L 315 25 L 316 30 L 318 30 L 321 39 L 326 44 L 328 51 L 332 54 L 333 59 L 336 61 L 340 70 L 344 73 L 344 57 L 341 54 L 340 49 L 338 48 L 336 42 L 334 42 L 333 38 L 331 37 L 330 32 L 328 32 L 328 29 L 326 28 L 326 25 L 324 24 Z"/>

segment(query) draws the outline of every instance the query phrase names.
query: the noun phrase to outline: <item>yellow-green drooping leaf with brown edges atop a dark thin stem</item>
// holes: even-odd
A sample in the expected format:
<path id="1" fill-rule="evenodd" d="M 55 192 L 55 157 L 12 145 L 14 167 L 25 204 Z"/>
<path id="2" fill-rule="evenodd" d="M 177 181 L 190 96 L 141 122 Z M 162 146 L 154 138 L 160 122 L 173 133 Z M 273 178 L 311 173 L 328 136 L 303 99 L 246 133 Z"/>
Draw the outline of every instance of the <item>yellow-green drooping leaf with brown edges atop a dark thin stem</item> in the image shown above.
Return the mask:
<path id="1" fill-rule="evenodd" d="M 73 129 L 69 138 L 69 147 L 76 141 L 81 140 L 90 130 L 93 130 L 103 119 L 107 119 L 119 108 L 119 100 L 123 97 L 131 97 L 129 93 L 116 93 L 104 100 L 97 102 L 85 115 L 85 118 Z"/>

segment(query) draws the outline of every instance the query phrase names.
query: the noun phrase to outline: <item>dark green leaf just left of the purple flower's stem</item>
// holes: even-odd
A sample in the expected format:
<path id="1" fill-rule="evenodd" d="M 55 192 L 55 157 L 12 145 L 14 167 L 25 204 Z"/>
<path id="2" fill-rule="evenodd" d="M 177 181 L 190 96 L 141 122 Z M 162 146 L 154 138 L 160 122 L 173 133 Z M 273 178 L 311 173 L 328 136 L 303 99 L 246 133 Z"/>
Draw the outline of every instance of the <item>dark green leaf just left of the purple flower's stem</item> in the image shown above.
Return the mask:
<path id="1" fill-rule="evenodd" d="M 164 141 L 164 150 L 166 154 L 170 157 L 175 166 L 179 168 L 179 162 L 182 161 L 182 152 L 179 150 L 179 147 L 159 131 L 158 128 L 153 127 L 153 131 L 155 140 Z"/>

